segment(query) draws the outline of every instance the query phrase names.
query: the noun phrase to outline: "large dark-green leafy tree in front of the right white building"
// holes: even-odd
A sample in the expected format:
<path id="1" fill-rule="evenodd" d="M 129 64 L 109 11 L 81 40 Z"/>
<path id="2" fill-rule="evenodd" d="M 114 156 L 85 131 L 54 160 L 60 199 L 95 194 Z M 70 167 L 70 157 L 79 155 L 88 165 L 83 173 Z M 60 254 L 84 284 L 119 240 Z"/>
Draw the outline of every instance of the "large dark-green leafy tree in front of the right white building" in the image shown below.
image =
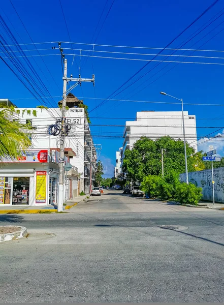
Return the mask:
<path id="1" fill-rule="evenodd" d="M 161 175 L 161 150 L 164 148 L 164 173 L 171 170 L 176 173 L 185 172 L 184 143 L 164 136 L 155 141 L 141 137 L 132 150 L 126 150 L 123 160 L 123 171 L 132 182 L 141 182 L 147 175 Z M 187 156 L 194 155 L 195 151 L 186 143 Z M 188 171 L 195 171 L 194 158 L 187 158 Z"/>

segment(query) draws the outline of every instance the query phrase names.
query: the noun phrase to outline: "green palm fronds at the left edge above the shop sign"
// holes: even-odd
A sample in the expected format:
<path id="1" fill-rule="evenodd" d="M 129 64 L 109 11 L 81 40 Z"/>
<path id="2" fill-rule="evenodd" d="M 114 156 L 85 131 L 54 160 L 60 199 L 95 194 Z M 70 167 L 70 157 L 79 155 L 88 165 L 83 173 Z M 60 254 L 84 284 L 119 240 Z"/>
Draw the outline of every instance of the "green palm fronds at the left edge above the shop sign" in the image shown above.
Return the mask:
<path id="1" fill-rule="evenodd" d="M 9 109 L 0 111 L 0 159 L 6 156 L 14 159 L 20 151 L 25 151 L 30 145 L 30 128 L 17 120 L 13 120 Z"/>

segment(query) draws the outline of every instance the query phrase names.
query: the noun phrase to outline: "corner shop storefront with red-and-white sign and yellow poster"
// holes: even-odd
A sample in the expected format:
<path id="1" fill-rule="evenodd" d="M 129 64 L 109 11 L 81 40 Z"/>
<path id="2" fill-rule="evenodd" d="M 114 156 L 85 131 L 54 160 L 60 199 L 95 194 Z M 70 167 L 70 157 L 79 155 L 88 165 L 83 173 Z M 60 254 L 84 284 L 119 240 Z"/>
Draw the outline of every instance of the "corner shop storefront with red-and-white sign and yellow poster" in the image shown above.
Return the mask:
<path id="1" fill-rule="evenodd" d="M 48 205 L 57 203 L 58 164 L 47 149 L 30 149 L 16 160 L 2 160 L 0 205 Z"/>

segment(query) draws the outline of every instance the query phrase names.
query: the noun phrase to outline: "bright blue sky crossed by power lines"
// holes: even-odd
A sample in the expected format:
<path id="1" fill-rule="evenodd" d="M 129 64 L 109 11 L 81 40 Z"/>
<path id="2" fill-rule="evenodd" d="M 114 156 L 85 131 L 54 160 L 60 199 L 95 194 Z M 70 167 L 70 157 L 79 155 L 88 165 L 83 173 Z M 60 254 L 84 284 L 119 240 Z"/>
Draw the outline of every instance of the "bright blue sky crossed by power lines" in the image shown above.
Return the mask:
<path id="1" fill-rule="evenodd" d="M 16 10 L 18 11 L 20 18 L 26 26 L 29 35 L 34 42 L 52 42 L 52 41 L 66 41 L 69 42 L 69 35 L 63 20 L 59 0 L 40 0 L 38 2 L 30 2 L 28 0 L 12 0 Z M 180 1 L 146 1 L 142 2 L 127 1 L 127 0 L 115 0 L 114 5 L 102 27 L 102 22 L 111 6 L 112 0 L 108 0 L 106 9 L 95 36 L 93 33 L 95 27 L 98 24 L 100 15 L 105 6 L 106 0 L 99 0 L 97 2 L 83 0 L 82 2 L 75 1 L 62 1 L 63 10 L 66 16 L 69 34 L 73 42 L 90 43 L 97 38 L 96 44 L 103 45 L 117 45 L 117 46 L 139 46 L 139 47 L 165 47 L 174 37 L 176 37 L 191 21 L 198 17 L 212 1 L 198 0 L 188 2 Z M 181 35 L 177 41 L 172 43 L 171 48 L 177 48 L 181 43 L 197 31 L 202 25 L 204 25 L 210 18 L 217 14 L 222 9 L 222 1 L 219 1 L 214 8 L 206 13 L 198 22 L 191 26 L 186 33 Z M 23 25 L 18 19 L 15 11 L 13 10 L 9 1 L 2 2 L 0 5 L 0 12 L 3 18 L 6 20 L 11 31 L 15 35 L 19 43 L 31 43 Z M 6 15 L 7 17 L 6 17 Z M 204 44 L 207 40 L 217 34 L 223 27 L 224 15 L 216 20 L 213 24 L 208 26 L 205 31 L 200 33 L 196 38 L 188 42 L 184 48 L 203 48 L 203 49 L 217 49 L 224 50 L 224 31 L 218 34 L 215 38 Z M 11 23 L 10 23 L 11 22 Z M 216 27 L 217 26 L 217 27 Z M 13 28 L 14 27 L 14 28 Z M 214 29 L 214 27 L 216 27 Z M 17 33 L 20 37 L 18 37 Z M 210 32 L 210 33 L 209 33 Z M 99 34 L 99 35 L 98 35 Z M 204 35 L 208 34 L 205 38 Z M 200 40 L 200 41 L 199 41 Z M 204 44 L 204 45 L 203 45 Z M 203 45 L 203 47 L 201 47 Z M 58 50 L 52 50 L 51 47 L 57 47 L 57 43 L 54 44 L 40 44 L 37 45 L 38 49 L 47 49 L 40 51 L 41 54 L 58 53 Z M 71 44 L 62 43 L 65 53 L 73 53 L 73 50 L 66 50 L 71 48 Z M 35 49 L 33 45 L 28 45 L 29 50 Z M 86 45 L 73 45 L 73 48 L 88 49 Z M 95 50 L 107 50 L 107 51 L 121 51 L 121 52 L 138 52 L 138 53 L 150 53 L 154 54 L 159 50 L 144 50 L 144 49 L 127 49 L 127 48 L 109 48 L 95 46 Z M 79 51 L 75 51 L 79 54 Z M 163 52 L 168 54 L 171 51 Z M 37 54 L 37 51 L 30 51 L 31 54 Z M 82 52 L 86 54 L 86 52 Z M 90 53 L 92 55 L 92 53 Z M 180 52 L 178 54 L 181 54 Z M 189 53 L 188 53 L 189 54 Z M 99 56 L 114 56 L 129 58 L 147 58 L 152 56 L 140 56 L 140 55 L 121 55 L 121 54 L 107 54 L 107 53 L 94 53 Z M 222 52 L 195 52 L 193 55 L 200 56 L 223 56 Z M 136 71 L 138 71 L 146 62 L 134 61 L 134 60 L 118 60 L 118 59 L 105 59 L 105 58 L 88 58 L 87 62 L 85 57 L 75 56 L 73 62 L 73 56 L 66 56 L 68 59 L 68 75 L 71 73 L 73 76 L 78 76 L 79 66 L 81 67 L 81 76 L 84 78 L 91 77 L 93 71 L 95 74 L 95 88 L 89 83 L 83 83 L 82 88 L 76 87 L 73 90 L 73 94 L 77 97 L 84 98 L 107 98 L 115 89 L 117 89 L 122 83 L 124 83 L 129 77 L 131 77 Z M 224 57 L 224 56 L 223 56 Z M 35 57 L 35 60 L 40 67 L 43 74 L 34 63 L 34 59 L 29 57 L 31 63 L 34 64 L 37 73 L 43 78 L 51 96 L 59 96 L 62 92 L 62 80 L 61 80 L 61 63 L 59 56 L 42 56 L 48 69 L 54 77 L 55 82 L 59 86 L 56 86 L 54 81 L 51 80 L 51 76 L 47 71 L 45 65 L 40 57 Z M 156 57 L 156 59 L 164 59 L 164 57 Z M 180 57 L 179 57 L 180 59 Z M 179 60 L 176 57 L 173 60 Z M 169 59 L 170 60 L 170 59 Z M 224 63 L 223 59 L 202 59 L 191 58 L 190 61 L 196 62 L 214 62 Z M 85 65 L 83 65 L 83 63 Z M 73 63 L 73 65 L 72 65 Z M 156 63 L 150 63 L 138 76 L 149 71 L 154 67 Z M 115 99 L 131 99 L 131 100 L 144 100 L 144 101 L 161 101 L 161 102 L 175 102 L 174 100 L 159 95 L 160 91 L 167 92 L 178 98 L 183 98 L 185 103 L 209 103 L 209 104 L 223 104 L 223 66 L 214 65 L 196 65 L 196 64 L 170 64 L 167 68 L 167 64 L 162 63 L 157 68 L 154 68 L 148 75 L 142 80 L 136 82 L 123 93 L 115 97 Z M 163 73 L 174 67 L 166 75 L 161 76 Z M 19 80 L 12 74 L 12 72 L 1 62 L 1 97 L 9 98 L 17 106 L 35 107 L 40 105 L 40 102 L 34 99 L 14 100 L 20 98 L 32 97 L 28 90 L 19 82 Z M 164 68 L 161 72 L 158 70 Z M 154 75 L 156 72 L 158 74 Z M 3 77 L 4 76 L 4 77 Z M 150 84 L 158 76 L 158 80 Z M 145 85 L 141 85 L 149 77 L 147 81 L 148 87 L 142 89 Z M 134 80 L 136 80 L 134 78 Z M 136 86 L 141 85 L 138 89 L 130 93 Z M 140 92 L 138 90 L 142 89 Z M 55 98 L 55 102 L 57 102 Z M 102 100 L 98 99 L 84 99 L 84 103 L 88 105 L 89 110 L 93 109 Z M 195 114 L 197 117 L 197 126 L 199 127 L 197 132 L 199 137 L 205 136 L 214 129 L 200 128 L 200 127 L 222 127 L 224 118 L 223 106 L 202 106 L 202 105 L 185 105 L 185 110 L 188 110 L 189 114 Z M 133 102 L 116 102 L 108 101 L 104 106 L 99 107 L 97 110 L 90 112 L 91 117 L 133 117 L 135 118 L 136 112 L 141 110 L 181 110 L 179 105 L 176 104 L 155 104 L 155 103 L 133 103 Z M 211 119 L 212 118 L 212 119 Z M 218 119 L 214 119 L 218 118 Z M 116 124 L 124 125 L 125 119 L 98 119 L 91 118 L 92 124 Z M 107 165 L 105 170 L 106 174 L 113 173 L 113 166 L 115 163 L 115 151 L 122 146 L 122 138 L 102 138 L 104 135 L 111 133 L 112 136 L 119 136 L 123 132 L 123 127 L 99 127 L 92 126 L 91 131 L 95 136 L 94 142 L 102 144 L 101 158 Z M 219 131 L 222 133 L 222 130 Z M 218 132 L 214 133 L 216 135 Z M 99 137 L 99 135 L 101 137 Z M 220 140 L 221 139 L 221 140 Z M 202 141 L 201 141 L 202 142 Z M 213 141 L 214 142 L 214 141 Z M 202 144 L 203 149 L 207 149 L 209 142 Z M 218 141 L 215 141 L 214 146 L 217 145 L 218 154 L 223 156 L 222 137 L 219 137 Z"/>

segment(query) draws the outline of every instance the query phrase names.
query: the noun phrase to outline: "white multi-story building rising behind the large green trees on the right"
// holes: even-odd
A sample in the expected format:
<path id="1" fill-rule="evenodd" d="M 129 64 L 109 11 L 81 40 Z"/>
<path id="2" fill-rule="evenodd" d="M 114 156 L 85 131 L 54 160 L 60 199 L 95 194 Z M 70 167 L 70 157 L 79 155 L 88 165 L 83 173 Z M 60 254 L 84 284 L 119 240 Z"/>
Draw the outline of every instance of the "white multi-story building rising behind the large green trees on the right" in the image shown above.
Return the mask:
<path id="1" fill-rule="evenodd" d="M 184 111 L 186 141 L 197 151 L 196 116 Z M 126 149 L 132 149 L 134 143 L 142 136 L 152 140 L 163 136 L 183 140 L 183 121 L 181 111 L 141 111 L 137 112 L 135 121 L 126 121 L 124 128 L 122 159 Z"/>

